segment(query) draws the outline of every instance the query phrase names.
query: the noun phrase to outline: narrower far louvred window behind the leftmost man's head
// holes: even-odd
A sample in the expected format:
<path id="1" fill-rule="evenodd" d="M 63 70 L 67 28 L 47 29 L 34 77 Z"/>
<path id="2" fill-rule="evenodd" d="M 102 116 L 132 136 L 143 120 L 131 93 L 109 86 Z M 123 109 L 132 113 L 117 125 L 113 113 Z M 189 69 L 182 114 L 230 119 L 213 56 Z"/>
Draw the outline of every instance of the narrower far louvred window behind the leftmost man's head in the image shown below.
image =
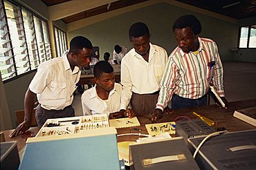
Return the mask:
<path id="1" fill-rule="evenodd" d="M 66 51 L 66 32 L 60 30 L 59 28 L 54 28 L 55 32 L 55 43 L 56 43 L 56 50 L 57 50 L 57 57 L 63 55 Z"/>

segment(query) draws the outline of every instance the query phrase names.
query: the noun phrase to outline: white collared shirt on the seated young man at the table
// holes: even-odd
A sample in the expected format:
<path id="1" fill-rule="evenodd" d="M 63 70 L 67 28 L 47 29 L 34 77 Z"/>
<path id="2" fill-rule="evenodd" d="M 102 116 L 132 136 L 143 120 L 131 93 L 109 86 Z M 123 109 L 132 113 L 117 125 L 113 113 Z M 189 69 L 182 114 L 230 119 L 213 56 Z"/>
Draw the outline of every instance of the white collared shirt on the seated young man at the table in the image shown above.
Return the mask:
<path id="1" fill-rule="evenodd" d="M 97 85 L 96 85 L 97 86 Z M 115 83 L 109 92 L 108 100 L 98 97 L 96 86 L 89 88 L 82 94 L 82 111 L 84 115 L 108 114 L 120 110 L 122 86 Z"/>

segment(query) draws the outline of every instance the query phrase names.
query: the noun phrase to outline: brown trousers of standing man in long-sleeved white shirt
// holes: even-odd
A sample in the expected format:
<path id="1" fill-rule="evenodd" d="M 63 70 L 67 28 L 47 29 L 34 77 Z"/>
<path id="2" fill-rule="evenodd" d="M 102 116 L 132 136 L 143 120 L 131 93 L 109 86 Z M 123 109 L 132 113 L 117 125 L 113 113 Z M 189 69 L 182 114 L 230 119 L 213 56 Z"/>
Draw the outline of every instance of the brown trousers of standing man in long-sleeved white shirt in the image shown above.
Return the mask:
<path id="1" fill-rule="evenodd" d="M 148 117 L 149 114 L 153 113 L 156 108 L 159 91 L 152 94 L 140 95 L 132 93 L 131 95 L 131 109 L 136 115 L 143 115 Z"/>

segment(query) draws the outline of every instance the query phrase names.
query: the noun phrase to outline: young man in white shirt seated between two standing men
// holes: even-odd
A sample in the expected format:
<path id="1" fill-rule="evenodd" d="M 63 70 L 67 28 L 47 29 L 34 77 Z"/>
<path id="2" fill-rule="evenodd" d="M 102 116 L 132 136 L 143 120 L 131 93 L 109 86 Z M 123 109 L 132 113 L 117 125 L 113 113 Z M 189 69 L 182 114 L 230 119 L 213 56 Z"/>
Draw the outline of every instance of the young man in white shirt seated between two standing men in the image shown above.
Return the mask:
<path id="1" fill-rule="evenodd" d="M 100 61 L 93 69 L 96 85 L 82 94 L 82 111 L 84 115 L 107 113 L 109 118 L 129 116 L 134 117 L 134 111 L 127 108 L 125 113 L 119 113 L 122 86 L 115 83 L 113 67 L 109 62 Z"/>

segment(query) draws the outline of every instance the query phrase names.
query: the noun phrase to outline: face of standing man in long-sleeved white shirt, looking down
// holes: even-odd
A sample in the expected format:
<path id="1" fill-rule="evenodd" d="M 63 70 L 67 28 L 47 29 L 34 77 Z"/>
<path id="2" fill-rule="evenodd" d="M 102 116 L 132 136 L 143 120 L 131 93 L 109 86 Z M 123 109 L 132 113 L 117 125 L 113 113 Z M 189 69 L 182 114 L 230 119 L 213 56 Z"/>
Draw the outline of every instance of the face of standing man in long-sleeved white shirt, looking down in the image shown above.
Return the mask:
<path id="1" fill-rule="evenodd" d="M 143 35 L 141 37 L 130 37 L 131 44 L 134 50 L 139 55 L 146 55 L 149 52 L 149 36 Z"/>

